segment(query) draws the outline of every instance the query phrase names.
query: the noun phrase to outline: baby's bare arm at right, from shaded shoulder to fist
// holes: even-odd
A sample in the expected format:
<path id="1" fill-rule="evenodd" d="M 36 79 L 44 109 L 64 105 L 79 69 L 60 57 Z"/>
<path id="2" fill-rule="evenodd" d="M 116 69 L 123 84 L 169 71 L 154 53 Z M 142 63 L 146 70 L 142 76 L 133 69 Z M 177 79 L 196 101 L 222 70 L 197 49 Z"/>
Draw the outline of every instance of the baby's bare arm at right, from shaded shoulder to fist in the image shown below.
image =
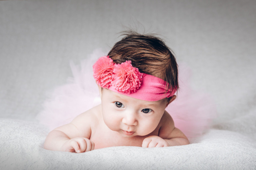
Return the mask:
<path id="1" fill-rule="evenodd" d="M 188 145 L 188 138 L 174 126 L 172 117 L 165 111 L 161 121 L 158 136 L 149 136 L 143 140 L 142 147 L 166 147 Z"/>

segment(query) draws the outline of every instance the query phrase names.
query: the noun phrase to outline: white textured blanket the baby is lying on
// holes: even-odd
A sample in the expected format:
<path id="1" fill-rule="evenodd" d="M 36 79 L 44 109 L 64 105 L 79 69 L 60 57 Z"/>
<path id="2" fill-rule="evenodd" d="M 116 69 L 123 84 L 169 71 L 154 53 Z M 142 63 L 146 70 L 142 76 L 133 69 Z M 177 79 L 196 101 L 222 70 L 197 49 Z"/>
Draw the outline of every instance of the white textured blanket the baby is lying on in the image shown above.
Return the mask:
<path id="1" fill-rule="evenodd" d="M 2 169 L 255 169 L 254 109 L 211 129 L 193 144 L 165 148 L 110 147 L 85 153 L 42 148 L 47 130 L 33 122 L 0 121 Z M 225 130 L 230 129 L 230 130 Z"/>

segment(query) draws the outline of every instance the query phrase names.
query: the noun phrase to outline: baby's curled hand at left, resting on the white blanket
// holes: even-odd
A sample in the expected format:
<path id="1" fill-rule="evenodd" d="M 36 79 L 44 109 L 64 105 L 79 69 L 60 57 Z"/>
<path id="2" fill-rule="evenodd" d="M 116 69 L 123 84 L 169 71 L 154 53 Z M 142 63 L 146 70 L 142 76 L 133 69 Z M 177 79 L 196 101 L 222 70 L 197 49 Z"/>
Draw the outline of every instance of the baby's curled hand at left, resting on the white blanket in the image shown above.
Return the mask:
<path id="1" fill-rule="evenodd" d="M 93 141 L 87 138 L 82 138 L 82 137 L 72 138 L 61 146 L 61 151 L 66 151 L 66 152 L 81 153 L 81 152 L 91 151 L 93 149 L 94 149 Z"/>

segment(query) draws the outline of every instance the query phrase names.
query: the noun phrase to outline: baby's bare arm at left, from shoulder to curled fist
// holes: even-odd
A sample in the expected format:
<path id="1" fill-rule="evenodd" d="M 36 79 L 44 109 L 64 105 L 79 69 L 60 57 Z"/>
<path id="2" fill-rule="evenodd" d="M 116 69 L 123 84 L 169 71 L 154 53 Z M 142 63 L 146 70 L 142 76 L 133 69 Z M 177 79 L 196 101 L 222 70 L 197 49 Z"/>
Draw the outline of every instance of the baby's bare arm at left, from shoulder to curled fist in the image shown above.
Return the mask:
<path id="1" fill-rule="evenodd" d="M 71 123 L 57 127 L 46 137 L 44 148 L 54 151 L 86 152 L 94 149 L 91 136 L 90 116 L 82 113 Z"/>

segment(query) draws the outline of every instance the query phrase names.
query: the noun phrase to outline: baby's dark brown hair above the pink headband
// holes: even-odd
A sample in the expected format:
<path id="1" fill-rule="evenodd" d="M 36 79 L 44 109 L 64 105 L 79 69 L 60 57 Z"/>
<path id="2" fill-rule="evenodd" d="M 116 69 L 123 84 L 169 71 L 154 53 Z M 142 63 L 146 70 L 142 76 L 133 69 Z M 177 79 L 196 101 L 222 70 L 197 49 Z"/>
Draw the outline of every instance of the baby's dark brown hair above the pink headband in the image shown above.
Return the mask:
<path id="1" fill-rule="evenodd" d="M 165 80 L 171 91 L 179 88 L 176 59 L 161 38 L 134 31 L 125 31 L 122 36 L 124 37 L 108 53 L 115 63 L 131 60 L 132 66 L 141 73 Z"/>

